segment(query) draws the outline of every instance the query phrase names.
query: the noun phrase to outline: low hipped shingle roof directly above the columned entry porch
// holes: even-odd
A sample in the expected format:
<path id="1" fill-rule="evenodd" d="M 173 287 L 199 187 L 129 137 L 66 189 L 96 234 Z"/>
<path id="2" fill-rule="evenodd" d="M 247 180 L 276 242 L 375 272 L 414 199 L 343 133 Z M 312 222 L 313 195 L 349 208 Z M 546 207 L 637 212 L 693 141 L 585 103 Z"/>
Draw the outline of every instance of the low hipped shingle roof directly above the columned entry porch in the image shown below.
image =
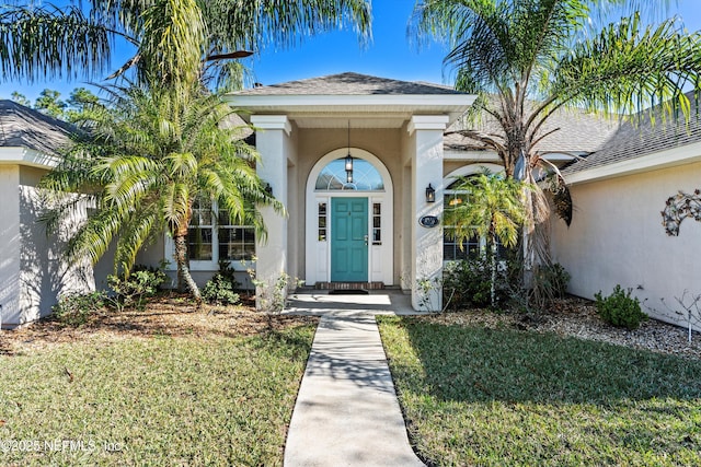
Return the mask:
<path id="1" fill-rule="evenodd" d="M 331 74 L 240 91 L 239 95 L 425 95 L 464 94 L 439 84 L 390 80 L 359 73 Z"/>

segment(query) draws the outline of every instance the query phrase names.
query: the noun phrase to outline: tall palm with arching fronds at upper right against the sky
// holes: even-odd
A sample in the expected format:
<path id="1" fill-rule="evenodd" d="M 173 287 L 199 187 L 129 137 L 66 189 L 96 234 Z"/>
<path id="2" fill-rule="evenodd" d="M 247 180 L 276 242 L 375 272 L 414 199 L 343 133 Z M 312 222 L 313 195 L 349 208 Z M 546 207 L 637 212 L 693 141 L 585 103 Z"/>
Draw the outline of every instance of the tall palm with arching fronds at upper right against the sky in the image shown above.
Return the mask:
<path id="1" fill-rule="evenodd" d="M 418 0 L 418 34 L 445 39 L 445 63 L 456 86 L 478 95 L 461 135 L 501 157 L 507 177 L 535 185 L 536 167 L 555 174 L 554 191 L 568 191 L 538 144 L 558 128 L 547 128 L 559 109 L 605 115 L 640 115 L 664 103 L 666 115 L 689 114 L 685 85 L 701 90 L 701 35 L 687 33 L 678 19 L 645 26 L 639 11 L 598 31 L 611 7 L 650 4 L 623 0 Z M 659 4 L 659 2 L 654 2 Z M 618 11 L 618 10 L 613 10 Z M 541 189 L 527 192 L 528 250 L 549 264 L 544 235 L 532 235 L 549 219 Z M 556 202 L 568 223 L 570 202 Z M 536 233 L 543 233 L 538 229 Z"/>

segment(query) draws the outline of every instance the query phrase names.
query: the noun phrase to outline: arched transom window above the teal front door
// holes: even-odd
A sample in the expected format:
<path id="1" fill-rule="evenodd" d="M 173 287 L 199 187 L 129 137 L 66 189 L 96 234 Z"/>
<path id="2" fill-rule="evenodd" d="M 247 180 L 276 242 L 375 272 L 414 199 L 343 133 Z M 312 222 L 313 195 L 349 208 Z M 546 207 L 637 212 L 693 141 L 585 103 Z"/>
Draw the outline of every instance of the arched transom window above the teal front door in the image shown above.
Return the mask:
<path id="1" fill-rule="evenodd" d="M 383 191 L 384 183 L 377 168 L 368 161 L 355 157 L 353 160 L 353 183 L 346 183 L 345 159 L 331 161 L 317 177 L 314 189 L 326 190 L 359 190 Z"/>

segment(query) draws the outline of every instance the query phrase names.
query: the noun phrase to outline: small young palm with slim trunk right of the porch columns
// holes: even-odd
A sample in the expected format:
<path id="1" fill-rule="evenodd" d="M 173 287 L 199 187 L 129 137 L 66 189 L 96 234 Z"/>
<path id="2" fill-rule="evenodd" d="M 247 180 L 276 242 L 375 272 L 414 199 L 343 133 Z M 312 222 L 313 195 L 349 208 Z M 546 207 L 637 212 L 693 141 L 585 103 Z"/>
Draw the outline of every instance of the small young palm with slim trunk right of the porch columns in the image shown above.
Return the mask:
<path id="1" fill-rule="evenodd" d="M 506 247 L 518 243 L 518 232 L 526 220 L 522 202 L 525 184 L 484 172 L 458 178 L 453 186 L 464 192 L 468 202 L 455 203 L 445 209 L 444 224 L 450 225 L 448 235 L 459 245 L 473 237 L 486 238 L 492 267 L 491 302 L 496 303 L 496 253 L 501 242 Z"/>

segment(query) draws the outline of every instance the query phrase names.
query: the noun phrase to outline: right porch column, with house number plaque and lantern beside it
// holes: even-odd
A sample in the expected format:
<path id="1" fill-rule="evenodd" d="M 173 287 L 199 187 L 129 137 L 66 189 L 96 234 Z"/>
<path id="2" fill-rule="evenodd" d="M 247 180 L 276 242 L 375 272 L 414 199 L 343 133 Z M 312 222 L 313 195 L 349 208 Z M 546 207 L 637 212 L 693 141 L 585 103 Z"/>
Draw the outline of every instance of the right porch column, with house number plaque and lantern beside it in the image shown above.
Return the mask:
<path id="1" fill-rule="evenodd" d="M 415 115 L 407 130 L 413 137 L 412 160 L 412 306 L 414 310 L 440 311 L 443 293 L 443 226 L 424 226 L 426 215 L 443 214 L 443 133 L 446 115 Z M 436 190 L 435 202 L 426 201 L 428 185 Z"/>

